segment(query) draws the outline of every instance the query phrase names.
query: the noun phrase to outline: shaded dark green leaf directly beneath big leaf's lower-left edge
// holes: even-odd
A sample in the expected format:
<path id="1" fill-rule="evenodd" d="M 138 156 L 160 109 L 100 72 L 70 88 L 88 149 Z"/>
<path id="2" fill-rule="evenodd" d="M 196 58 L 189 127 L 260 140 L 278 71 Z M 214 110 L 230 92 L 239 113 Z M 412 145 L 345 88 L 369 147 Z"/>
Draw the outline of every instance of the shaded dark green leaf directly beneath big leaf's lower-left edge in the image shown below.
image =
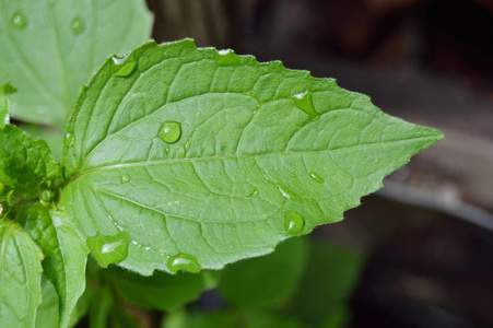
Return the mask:
<path id="1" fill-rule="evenodd" d="M 176 276 L 156 271 L 152 277 L 143 277 L 111 268 L 111 273 L 116 290 L 127 302 L 161 311 L 172 311 L 197 300 L 214 279 L 210 271 Z"/>

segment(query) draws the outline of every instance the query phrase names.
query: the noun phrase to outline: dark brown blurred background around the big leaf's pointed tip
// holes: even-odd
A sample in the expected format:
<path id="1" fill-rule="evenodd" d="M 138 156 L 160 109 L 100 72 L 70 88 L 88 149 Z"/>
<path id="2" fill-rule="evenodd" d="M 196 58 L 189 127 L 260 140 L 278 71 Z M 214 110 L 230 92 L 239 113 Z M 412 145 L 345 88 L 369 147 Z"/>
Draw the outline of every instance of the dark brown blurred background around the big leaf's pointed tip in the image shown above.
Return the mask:
<path id="1" fill-rule="evenodd" d="M 364 259 L 350 327 L 493 327 L 493 1 L 148 4 L 157 42 L 192 37 L 279 59 L 441 129 L 444 140 L 312 238 Z"/>

